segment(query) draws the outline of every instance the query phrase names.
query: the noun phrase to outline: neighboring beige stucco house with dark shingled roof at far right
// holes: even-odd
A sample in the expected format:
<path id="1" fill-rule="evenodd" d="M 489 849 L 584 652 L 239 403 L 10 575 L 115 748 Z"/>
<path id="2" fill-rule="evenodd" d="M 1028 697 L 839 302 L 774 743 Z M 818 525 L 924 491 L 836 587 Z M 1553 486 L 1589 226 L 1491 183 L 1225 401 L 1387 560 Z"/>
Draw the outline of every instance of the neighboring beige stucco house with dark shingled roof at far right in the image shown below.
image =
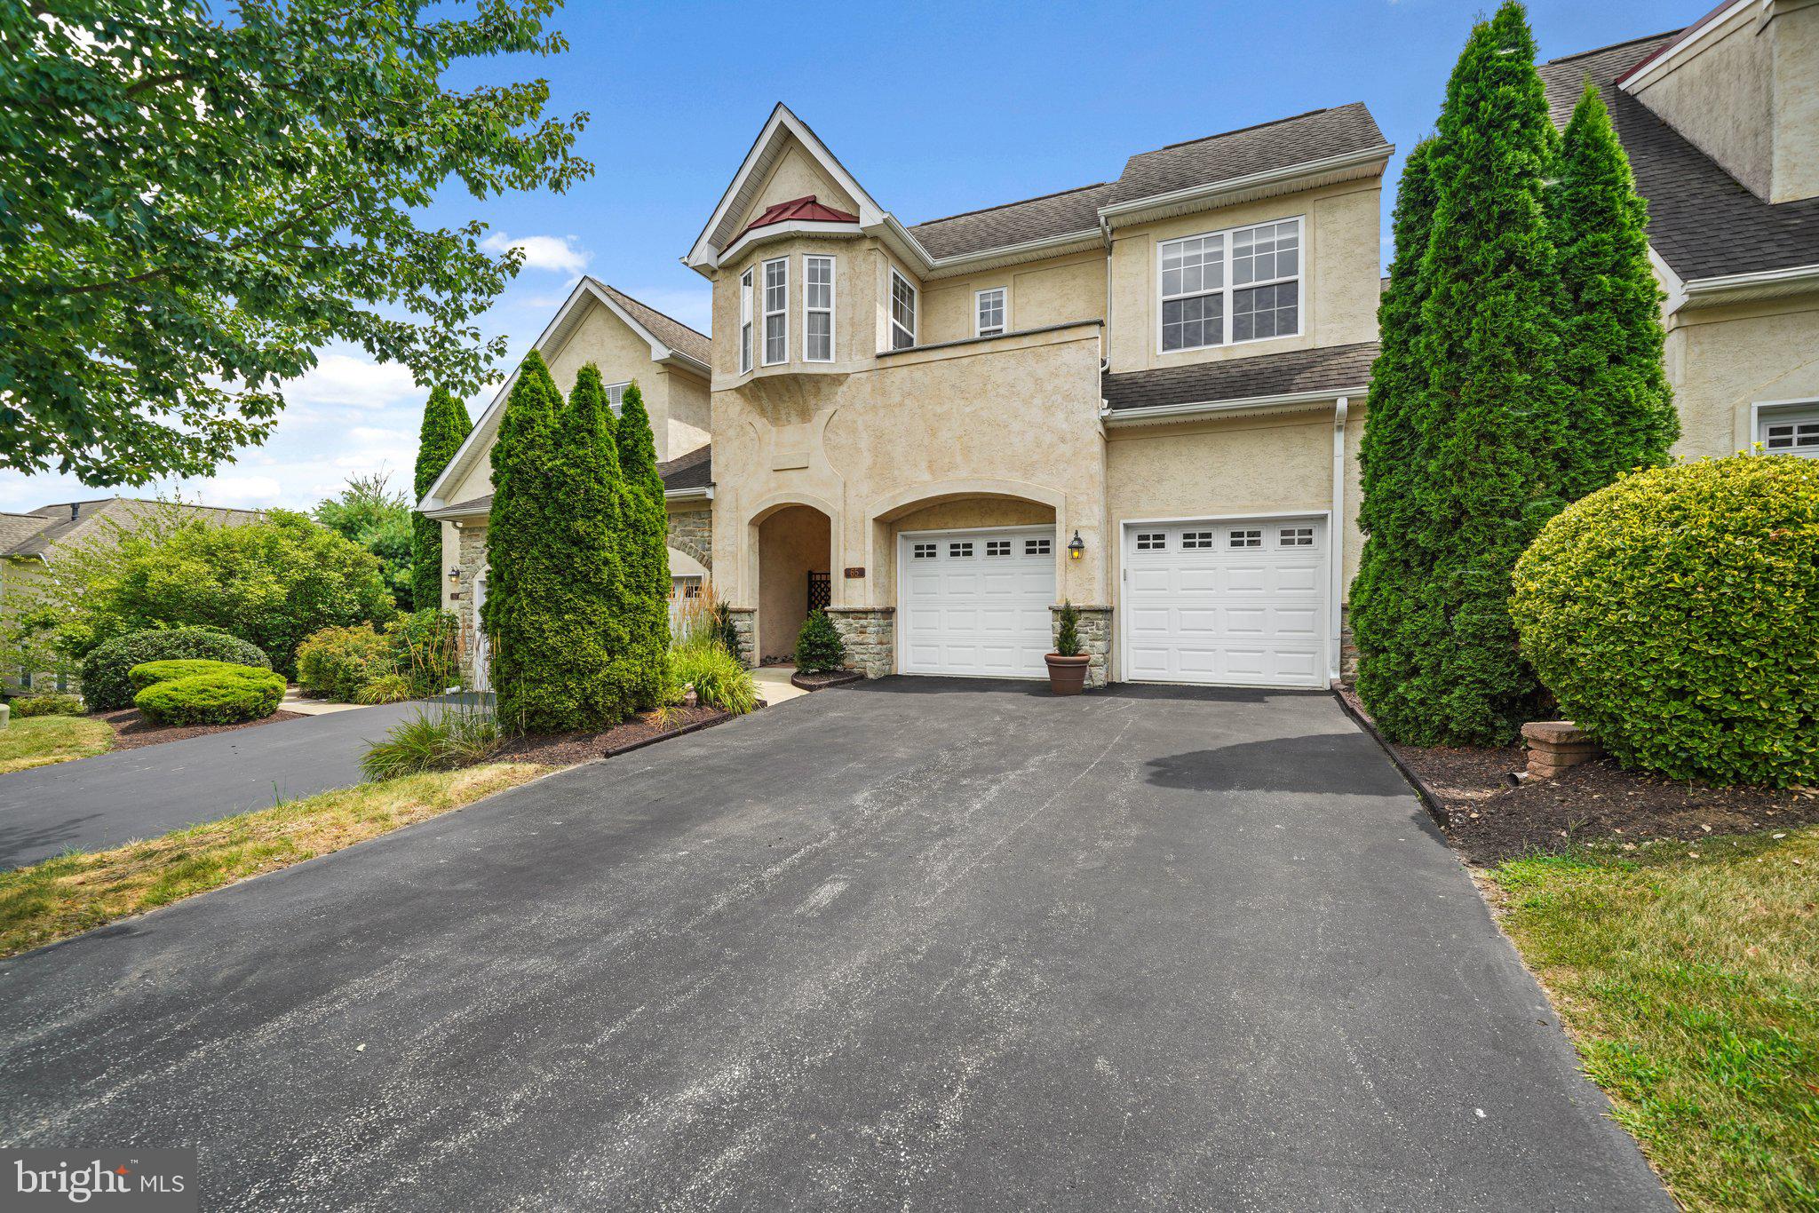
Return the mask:
<path id="1" fill-rule="evenodd" d="M 1541 75 L 1561 125 L 1599 85 L 1648 198 L 1675 451 L 1819 456 L 1819 4 L 1734 0 Z"/>

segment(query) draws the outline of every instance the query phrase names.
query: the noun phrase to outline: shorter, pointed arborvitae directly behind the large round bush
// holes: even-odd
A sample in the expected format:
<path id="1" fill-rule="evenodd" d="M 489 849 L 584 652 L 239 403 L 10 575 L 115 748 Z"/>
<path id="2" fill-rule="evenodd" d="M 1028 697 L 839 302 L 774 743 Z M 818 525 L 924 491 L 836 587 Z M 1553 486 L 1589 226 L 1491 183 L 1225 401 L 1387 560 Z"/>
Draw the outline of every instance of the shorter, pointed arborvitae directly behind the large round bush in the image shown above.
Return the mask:
<path id="1" fill-rule="evenodd" d="M 1577 500 L 1626 471 L 1663 464 L 1681 433 L 1661 362 L 1648 204 L 1592 82 L 1566 124 L 1548 202 L 1564 291 L 1559 366 L 1570 393 L 1561 493 Z"/>

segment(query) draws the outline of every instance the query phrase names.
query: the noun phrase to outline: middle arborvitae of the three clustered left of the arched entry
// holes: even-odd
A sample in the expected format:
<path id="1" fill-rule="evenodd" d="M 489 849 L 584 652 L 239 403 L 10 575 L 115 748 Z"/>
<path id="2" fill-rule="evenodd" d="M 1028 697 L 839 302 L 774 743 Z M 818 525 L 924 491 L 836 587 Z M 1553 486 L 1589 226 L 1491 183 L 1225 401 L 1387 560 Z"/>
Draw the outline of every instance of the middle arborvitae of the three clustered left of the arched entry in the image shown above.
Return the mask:
<path id="1" fill-rule="evenodd" d="M 628 651 L 626 584 L 620 566 L 624 484 L 613 440 L 613 409 L 600 367 L 575 375 L 569 407 L 557 427 L 553 486 L 568 578 L 553 613 L 568 640 L 562 660 L 573 718 L 568 727 L 606 727 L 631 711 L 615 667 Z"/>

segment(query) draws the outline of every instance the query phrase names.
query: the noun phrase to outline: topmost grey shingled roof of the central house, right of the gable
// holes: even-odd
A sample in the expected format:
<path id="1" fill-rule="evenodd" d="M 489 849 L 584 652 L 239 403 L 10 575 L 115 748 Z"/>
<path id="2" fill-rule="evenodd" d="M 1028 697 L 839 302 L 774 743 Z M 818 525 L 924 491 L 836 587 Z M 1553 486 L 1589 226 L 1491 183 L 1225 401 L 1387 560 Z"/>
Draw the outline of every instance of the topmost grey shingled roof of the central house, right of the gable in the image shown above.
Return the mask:
<path id="1" fill-rule="evenodd" d="M 1382 131 L 1362 102 L 1313 109 L 1293 118 L 1208 135 L 1144 151 L 1124 162 L 1115 182 L 1079 185 L 1004 206 L 950 215 L 910 227 L 931 256 L 962 256 L 1099 227 L 1099 209 L 1182 189 L 1291 169 L 1346 153 L 1382 147 Z"/>

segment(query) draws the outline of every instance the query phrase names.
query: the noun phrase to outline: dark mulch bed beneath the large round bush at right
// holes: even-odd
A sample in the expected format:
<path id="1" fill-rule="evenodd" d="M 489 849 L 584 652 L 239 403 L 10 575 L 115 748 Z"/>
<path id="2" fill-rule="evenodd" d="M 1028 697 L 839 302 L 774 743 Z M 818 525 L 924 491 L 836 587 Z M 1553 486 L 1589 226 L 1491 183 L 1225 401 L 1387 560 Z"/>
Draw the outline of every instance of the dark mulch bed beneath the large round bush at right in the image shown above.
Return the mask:
<path id="1" fill-rule="evenodd" d="M 1364 713 L 1355 695 L 1344 697 L 1353 711 Z M 1608 758 L 1512 787 L 1510 773 L 1528 762 L 1521 746 L 1390 749 L 1439 806 L 1441 827 L 1472 864 L 1561 851 L 1577 842 L 1690 842 L 1819 822 L 1819 791 L 1675 784 L 1626 771 Z"/>

